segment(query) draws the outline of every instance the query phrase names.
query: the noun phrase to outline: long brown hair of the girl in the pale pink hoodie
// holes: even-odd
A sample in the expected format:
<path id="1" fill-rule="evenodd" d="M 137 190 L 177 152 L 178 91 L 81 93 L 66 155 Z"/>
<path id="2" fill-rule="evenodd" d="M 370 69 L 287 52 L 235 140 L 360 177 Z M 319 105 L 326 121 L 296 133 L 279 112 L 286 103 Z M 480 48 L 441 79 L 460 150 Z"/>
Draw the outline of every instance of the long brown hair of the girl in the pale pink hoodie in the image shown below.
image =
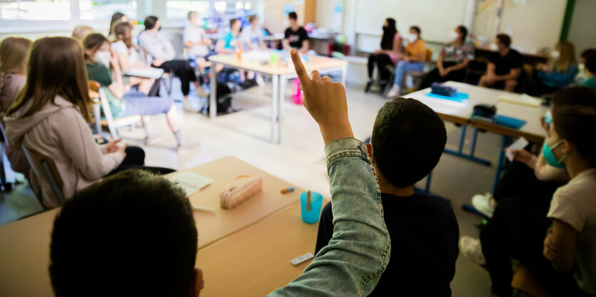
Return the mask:
<path id="1" fill-rule="evenodd" d="M 52 103 L 57 95 L 73 103 L 83 118 L 91 121 L 89 113 L 89 89 L 83 48 L 72 38 L 45 37 L 36 40 L 31 47 L 27 65 L 27 82 L 8 115 L 33 101 L 20 118 L 39 112 Z"/>

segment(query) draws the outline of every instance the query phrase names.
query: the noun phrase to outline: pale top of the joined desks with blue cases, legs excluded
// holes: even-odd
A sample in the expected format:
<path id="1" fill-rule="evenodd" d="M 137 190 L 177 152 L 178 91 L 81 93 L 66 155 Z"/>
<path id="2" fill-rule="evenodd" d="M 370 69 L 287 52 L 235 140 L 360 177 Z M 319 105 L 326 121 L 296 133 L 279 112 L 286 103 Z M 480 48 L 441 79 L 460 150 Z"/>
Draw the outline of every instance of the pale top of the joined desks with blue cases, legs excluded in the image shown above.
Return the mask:
<path id="1" fill-rule="evenodd" d="M 404 98 L 414 98 L 420 100 L 422 103 L 433 108 L 436 113 L 440 115 L 443 120 L 478 126 L 479 128 L 489 130 L 491 132 L 497 132 L 501 135 L 507 135 L 511 137 L 523 136 L 527 140 L 534 142 L 542 142 L 546 136 L 546 131 L 540 125 L 540 116 L 544 115 L 548 108 L 540 106 L 537 108 L 520 105 L 515 103 L 507 103 L 499 100 L 502 96 L 507 98 L 521 98 L 522 95 L 515 93 L 507 93 L 504 90 L 495 90 L 490 88 L 478 87 L 476 85 L 468 85 L 467 83 L 457 83 L 454 81 L 448 81 L 445 85 L 458 88 L 458 92 L 468 93 L 470 97 L 464 102 L 455 102 L 451 100 L 445 100 L 440 98 L 429 97 L 430 88 L 418 90 L 408 95 L 403 95 Z M 497 106 L 497 114 L 505 115 L 520 120 L 525 120 L 527 123 L 520 129 L 515 130 L 493 123 L 480 123 L 478 120 L 470 120 L 474 105 L 477 104 L 491 104 Z"/>

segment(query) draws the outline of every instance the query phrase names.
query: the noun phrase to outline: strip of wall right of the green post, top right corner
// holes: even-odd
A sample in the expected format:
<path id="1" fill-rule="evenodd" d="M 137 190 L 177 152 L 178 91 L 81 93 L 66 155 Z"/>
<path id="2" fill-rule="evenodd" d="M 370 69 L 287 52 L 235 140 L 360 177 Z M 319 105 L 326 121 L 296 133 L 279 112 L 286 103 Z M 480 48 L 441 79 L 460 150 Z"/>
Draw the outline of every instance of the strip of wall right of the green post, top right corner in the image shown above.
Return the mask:
<path id="1" fill-rule="evenodd" d="M 567 40 L 575 45 L 577 58 L 587 48 L 596 48 L 596 1 L 576 0 Z"/>

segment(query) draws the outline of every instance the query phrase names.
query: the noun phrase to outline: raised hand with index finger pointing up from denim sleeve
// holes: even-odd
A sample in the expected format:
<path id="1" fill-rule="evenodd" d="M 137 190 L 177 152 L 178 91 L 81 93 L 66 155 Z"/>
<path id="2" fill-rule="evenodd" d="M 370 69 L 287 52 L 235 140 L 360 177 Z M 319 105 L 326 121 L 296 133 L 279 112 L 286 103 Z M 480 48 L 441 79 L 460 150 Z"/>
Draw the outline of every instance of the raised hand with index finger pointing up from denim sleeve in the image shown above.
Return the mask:
<path id="1" fill-rule="evenodd" d="M 318 71 L 313 71 L 308 77 L 298 51 L 293 49 L 290 54 L 304 92 L 304 107 L 318 123 L 325 144 L 354 137 L 348 120 L 348 101 L 343 85 L 333 83 L 328 76 L 321 78 Z"/>

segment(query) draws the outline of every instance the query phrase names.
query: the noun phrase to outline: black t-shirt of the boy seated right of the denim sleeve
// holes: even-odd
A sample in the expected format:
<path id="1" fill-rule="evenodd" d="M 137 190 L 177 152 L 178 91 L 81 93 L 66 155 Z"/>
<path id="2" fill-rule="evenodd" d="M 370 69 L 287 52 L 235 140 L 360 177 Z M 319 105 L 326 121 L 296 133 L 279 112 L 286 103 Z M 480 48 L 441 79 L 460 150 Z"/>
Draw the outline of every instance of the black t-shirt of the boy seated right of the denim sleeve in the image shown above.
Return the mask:
<path id="1" fill-rule="evenodd" d="M 443 197 L 381 194 L 391 257 L 369 296 L 451 296 L 460 230 Z M 333 237 L 331 204 L 320 214 L 315 253 Z"/>

